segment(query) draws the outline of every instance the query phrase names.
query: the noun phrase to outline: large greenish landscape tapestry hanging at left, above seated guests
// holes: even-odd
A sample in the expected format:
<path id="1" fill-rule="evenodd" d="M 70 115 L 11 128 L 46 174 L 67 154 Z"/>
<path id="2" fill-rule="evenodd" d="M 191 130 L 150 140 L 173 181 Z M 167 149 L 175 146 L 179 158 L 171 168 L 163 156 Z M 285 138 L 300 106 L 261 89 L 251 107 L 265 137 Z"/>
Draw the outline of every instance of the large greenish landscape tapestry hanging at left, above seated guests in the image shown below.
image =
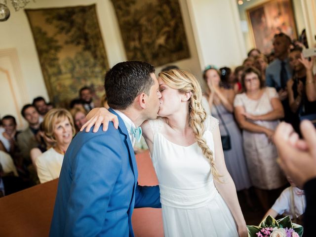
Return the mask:
<path id="1" fill-rule="evenodd" d="M 51 102 L 67 106 L 83 86 L 101 98 L 108 61 L 95 4 L 25 11 Z"/>

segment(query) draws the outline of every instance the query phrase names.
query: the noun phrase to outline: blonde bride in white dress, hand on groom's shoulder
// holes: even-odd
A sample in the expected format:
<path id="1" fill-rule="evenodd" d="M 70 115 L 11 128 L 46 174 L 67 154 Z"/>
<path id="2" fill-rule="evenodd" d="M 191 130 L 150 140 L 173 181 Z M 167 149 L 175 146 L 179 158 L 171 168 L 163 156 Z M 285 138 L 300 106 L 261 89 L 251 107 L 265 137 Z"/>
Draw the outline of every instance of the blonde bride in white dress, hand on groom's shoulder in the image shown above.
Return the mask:
<path id="1" fill-rule="evenodd" d="M 141 127 L 159 181 L 164 236 L 248 236 L 226 169 L 219 122 L 206 116 L 197 79 L 170 70 L 159 73 L 158 82 L 159 117 Z M 109 113 L 92 110 L 81 131 L 94 124 L 97 130 Z"/>

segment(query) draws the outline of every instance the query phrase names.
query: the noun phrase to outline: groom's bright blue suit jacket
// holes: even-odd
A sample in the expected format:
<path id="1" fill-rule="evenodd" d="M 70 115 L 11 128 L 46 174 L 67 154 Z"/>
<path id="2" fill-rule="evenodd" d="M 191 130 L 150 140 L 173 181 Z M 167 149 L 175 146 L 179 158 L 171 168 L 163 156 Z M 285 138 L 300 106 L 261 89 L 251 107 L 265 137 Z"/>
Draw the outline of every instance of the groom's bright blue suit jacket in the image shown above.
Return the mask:
<path id="1" fill-rule="evenodd" d="M 133 237 L 134 207 L 161 207 L 158 186 L 138 186 L 133 147 L 119 116 L 118 121 L 118 129 L 110 122 L 107 132 L 102 127 L 96 133 L 79 132 L 71 142 L 50 237 Z"/>

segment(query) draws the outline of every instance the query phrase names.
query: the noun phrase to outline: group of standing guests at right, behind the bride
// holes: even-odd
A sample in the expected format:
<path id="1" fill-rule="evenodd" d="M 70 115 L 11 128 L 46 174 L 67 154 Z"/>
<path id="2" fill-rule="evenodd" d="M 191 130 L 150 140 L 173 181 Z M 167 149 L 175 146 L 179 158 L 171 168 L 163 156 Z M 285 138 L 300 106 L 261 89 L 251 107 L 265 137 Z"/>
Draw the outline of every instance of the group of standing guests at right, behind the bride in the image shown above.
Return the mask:
<path id="1" fill-rule="evenodd" d="M 204 96 L 211 115 L 220 120 L 225 162 L 237 191 L 246 195 L 251 207 L 247 190 L 254 187 L 262 208 L 269 210 L 267 215 L 291 213 L 296 218 L 304 212 L 301 191 L 276 162 L 273 137 L 280 120 L 290 123 L 300 134 L 301 120 L 316 119 L 315 58 L 303 57 L 305 44 L 276 34 L 271 55 L 252 49 L 235 71 L 208 65 L 203 72 L 207 84 Z M 227 136 L 230 146 L 225 149 Z M 276 200 L 288 186 L 286 178 L 292 188 Z M 296 206 L 289 192 L 293 192 Z M 289 203 L 285 203 L 287 200 Z"/>

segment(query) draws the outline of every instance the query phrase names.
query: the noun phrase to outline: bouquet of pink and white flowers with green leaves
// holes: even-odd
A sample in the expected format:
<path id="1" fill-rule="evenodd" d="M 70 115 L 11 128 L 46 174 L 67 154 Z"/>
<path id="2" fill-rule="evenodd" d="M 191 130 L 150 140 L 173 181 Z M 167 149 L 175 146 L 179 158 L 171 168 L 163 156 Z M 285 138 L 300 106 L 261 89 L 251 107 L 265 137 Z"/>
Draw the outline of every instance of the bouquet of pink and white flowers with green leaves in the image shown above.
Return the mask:
<path id="1" fill-rule="evenodd" d="M 276 220 L 267 216 L 259 226 L 247 226 L 248 237 L 302 237 L 303 227 L 292 223 L 291 218 L 286 216 Z"/>

